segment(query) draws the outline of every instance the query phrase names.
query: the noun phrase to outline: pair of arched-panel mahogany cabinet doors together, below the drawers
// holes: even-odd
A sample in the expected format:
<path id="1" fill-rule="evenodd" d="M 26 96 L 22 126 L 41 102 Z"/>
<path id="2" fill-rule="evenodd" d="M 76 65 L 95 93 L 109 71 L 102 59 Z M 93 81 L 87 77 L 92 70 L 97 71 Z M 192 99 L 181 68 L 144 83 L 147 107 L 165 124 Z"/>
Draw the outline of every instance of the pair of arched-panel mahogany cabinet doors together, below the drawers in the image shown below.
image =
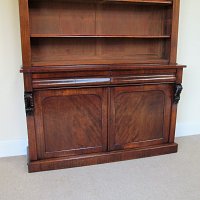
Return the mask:
<path id="1" fill-rule="evenodd" d="M 34 92 L 39 159 L 167 143 L 173 84 Z"/>

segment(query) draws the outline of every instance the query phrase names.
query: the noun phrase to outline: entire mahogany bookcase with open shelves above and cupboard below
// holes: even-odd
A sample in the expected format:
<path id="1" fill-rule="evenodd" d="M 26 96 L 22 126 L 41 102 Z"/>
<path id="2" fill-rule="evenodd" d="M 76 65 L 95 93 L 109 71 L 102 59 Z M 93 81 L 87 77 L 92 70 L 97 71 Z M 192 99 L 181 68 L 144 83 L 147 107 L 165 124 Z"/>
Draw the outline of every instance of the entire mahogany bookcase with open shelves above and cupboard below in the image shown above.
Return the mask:
<path id="1" fill-rule="evenodd" d="M 177 151 L 179 0 L 19 0 L 29 171 Z"/>

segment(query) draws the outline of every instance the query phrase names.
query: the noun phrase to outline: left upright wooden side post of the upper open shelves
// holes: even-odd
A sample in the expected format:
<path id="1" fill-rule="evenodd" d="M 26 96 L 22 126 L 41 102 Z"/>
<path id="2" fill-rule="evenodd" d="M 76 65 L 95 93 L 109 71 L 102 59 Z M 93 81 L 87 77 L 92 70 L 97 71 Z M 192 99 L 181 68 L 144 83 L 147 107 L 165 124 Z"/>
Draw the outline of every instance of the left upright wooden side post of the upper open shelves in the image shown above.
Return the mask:
<path id="1" fill-rule="evenodd" d="M 19 0 L 23 67 L 31 67 L 28 0 Z"/>

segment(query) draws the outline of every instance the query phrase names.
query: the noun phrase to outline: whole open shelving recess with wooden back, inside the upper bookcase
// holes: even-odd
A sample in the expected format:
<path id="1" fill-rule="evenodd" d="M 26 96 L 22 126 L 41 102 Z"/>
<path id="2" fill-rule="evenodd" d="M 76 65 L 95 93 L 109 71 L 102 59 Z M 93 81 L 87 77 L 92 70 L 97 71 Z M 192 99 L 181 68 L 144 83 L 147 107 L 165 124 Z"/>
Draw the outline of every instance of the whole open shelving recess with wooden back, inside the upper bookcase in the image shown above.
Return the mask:
<path id="1" fill-rule="evenodd" d="M 32 65 L 167 64 L 171 3 L 30 0 Z"/>

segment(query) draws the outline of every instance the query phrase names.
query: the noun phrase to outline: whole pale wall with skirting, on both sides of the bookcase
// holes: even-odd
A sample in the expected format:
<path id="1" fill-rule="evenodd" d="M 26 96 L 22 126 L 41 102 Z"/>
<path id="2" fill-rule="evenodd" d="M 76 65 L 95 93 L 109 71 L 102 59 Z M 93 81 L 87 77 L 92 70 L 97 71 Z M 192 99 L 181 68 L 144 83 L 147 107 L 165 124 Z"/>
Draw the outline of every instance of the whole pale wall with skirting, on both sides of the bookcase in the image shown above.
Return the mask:
<path id="1" fill-rule="evenodd" d="M 200 1 L 181 0 L 178 62 L 187 64 L 177 136 L 200 134 Z M 25 154 L 27 145 L 18 0 L 0 0 L 0 157 Z"/>

